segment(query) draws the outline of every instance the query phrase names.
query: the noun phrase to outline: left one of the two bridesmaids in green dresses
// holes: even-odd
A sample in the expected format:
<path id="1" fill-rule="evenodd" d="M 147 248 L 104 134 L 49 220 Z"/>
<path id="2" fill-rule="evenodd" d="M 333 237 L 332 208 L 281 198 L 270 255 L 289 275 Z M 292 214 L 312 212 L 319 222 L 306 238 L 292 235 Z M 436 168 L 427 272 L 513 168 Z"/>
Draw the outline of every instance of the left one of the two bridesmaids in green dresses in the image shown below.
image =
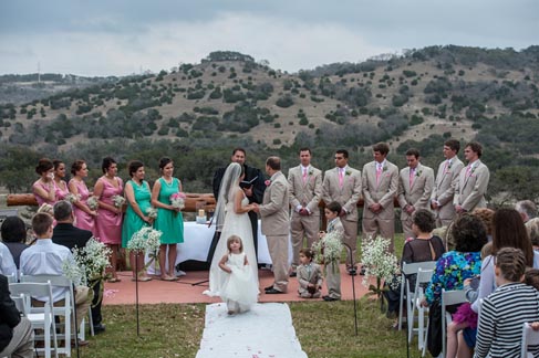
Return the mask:
<path id="1" fill-rule="evenodd" d="M 152 219 L 147 215 L 151 208 L 149 200 L 152 193 L 149 185 L 144 180 L 144 164 L 139 160 L 132 160 L 127 165 L 131 180 L 125 183 L 125 199 L 127 199 L 127 210 L 125 211 L 124 224 L 122 228 L 122 248 L 127 244 L 135 232 L 145 225 L 152 224 Z M 136 264 L 135 264 L 136 260 Z M 129 264 L 133 270 L 133 280 L 136 280 L 138 270 L 144 267 L 144 255 L 137 255 L 129 252 Z M 138 272 L 138 281 L 151 281 L 152 278 L 145 272 Z"/>

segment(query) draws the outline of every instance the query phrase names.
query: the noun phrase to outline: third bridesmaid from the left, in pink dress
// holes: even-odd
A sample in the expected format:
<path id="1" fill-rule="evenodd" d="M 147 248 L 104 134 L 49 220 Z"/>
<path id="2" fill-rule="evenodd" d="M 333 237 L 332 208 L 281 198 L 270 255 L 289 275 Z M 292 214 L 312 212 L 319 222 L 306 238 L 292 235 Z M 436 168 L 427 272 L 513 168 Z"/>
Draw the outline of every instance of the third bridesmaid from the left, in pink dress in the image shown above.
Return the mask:
<path id="1" fill-rule="evenodd" d="M 90 197 L 90 191 L 84 182 L 84 178 L 87 177 L 86 162 L 81 159 L 75 160 L 71 166 L 71 173 L 73 178 L 68 187 L 72 194 L 80 196 L 80 199 L 73 203 L 74 225 L 79 229 L 90 230 L 95 234 L 94 218 L 97 215 L 97 211 L 90 209 L 86 203 Z"/>

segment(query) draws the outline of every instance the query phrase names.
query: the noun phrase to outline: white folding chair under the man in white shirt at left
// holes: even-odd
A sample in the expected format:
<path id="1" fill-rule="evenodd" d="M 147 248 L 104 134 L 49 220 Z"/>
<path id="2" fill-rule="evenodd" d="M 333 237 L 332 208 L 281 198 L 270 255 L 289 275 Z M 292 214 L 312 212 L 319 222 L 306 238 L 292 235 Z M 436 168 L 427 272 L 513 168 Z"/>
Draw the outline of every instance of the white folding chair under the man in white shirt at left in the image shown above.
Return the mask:
<path id="1" fill-rule="evenodd" d="M 50 282 L 53 287 L 68 288 L 63 298 L 64 304 L 59 305 L 58 303 L 54 303 L 53 312 L 55 316 L 64 317 L 63 333 L 58 334 L 59 339 L 63 339 L 64 343 L 62 347 L 59 347 L 59 354 L 65 355 L 66 357 L 71 357 L 71 338 L 72 336 L 76 337 L 75 329 L 73 328 L 76 326 L 76 320 L 75 320 L 75 305 L 74 305 L 75 296 L 73 293 L 72 281 L 65 276 L 59 276 L 59 275 L 22 275 L 21 274 L 21 282 L 34 282 L 34 283 Z M 75 339 L 75 345 L 76 344 L 77 340 Z"/>

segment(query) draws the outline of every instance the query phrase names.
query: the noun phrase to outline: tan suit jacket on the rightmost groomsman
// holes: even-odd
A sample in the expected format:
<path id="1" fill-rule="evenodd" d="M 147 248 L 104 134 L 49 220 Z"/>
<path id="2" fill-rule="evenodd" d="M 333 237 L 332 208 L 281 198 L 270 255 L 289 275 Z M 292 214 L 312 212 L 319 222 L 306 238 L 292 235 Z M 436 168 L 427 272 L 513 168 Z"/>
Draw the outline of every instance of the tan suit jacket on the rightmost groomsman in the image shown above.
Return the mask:
<path id="1" fill-rule="evenodd" d="M 466 211 L 486 208 L 485 193 L 487 192 L 490 171 L 479 159 L 476 160 L 468 176 L 466 176 L 466 171 L 467 167 L 460 170 L 453 203 L 463 207 Z"/>

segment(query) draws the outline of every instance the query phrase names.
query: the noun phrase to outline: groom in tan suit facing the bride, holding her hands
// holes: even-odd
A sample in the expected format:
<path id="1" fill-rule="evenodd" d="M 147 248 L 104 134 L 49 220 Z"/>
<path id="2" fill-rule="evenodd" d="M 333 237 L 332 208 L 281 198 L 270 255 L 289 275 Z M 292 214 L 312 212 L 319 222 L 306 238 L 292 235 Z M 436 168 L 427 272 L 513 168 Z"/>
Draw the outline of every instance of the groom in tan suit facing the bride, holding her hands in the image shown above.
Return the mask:
<path id="1" fill-rule="evenodd" d="M 262 218 L 262 233 L 273 265 L 273 284 L 266 287 L 267 294 L 282 294 L 288 288 L 288 235 L 290 233 L 289 190 L 287 177 L 281 172 L 281 159 L 269 157 L 266 173 L 270 176 L 261 206 L 255 211 Z"/>

